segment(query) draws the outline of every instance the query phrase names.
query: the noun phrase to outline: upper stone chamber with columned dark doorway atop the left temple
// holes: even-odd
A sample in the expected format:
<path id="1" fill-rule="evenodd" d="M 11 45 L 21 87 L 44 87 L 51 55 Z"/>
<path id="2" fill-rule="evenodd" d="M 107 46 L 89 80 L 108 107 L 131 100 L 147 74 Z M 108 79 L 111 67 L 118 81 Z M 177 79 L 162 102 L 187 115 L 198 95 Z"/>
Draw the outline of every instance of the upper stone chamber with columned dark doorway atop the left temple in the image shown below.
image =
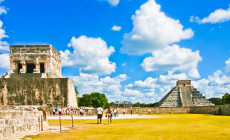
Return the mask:
<path id="1" fill-rule="evenodd" d="M 12 45 L 10 73 L 43 73 L 45 77 L 62 77 L 61 53 L 51 45 Z"/>

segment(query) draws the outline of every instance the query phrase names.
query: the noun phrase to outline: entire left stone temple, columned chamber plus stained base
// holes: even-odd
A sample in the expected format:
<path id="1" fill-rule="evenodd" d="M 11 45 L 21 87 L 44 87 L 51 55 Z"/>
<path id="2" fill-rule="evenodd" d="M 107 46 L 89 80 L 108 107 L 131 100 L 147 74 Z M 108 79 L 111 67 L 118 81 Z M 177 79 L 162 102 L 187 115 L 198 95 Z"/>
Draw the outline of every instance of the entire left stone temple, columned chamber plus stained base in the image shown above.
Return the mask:
<path id="1" fill-rule="evenodd" d="M 10 71 L 0 81 L 0 105 L 77 107 L 74 82 L 61 74 L 51 45 L 10 46 Z"/>

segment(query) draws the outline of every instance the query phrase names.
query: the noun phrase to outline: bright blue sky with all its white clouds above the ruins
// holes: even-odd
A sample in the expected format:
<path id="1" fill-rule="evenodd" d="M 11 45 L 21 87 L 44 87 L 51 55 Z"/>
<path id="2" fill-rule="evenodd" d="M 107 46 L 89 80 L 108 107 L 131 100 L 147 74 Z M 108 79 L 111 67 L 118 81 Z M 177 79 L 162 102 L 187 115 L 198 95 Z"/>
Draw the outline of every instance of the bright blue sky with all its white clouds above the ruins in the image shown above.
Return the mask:
<path id="1" fill-rule="evenodd" d="M 180 79 L 230 92 L 228 0 L 0 0 L 0 72 L 9 46 L 51 44 L 80 95 L 153 103 Z"/>

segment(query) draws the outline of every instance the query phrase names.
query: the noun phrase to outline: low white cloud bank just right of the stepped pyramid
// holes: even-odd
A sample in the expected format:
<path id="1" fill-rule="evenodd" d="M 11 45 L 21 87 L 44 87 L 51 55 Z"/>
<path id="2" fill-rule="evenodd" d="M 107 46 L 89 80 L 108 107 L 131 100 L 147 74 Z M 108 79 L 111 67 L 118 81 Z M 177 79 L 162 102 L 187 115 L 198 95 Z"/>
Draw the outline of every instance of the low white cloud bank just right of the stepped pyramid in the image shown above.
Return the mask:
<path id="1" fill-rule="evenodd" d="M 208 78 L 192 81 L 192 85 L 207 98 L 221 97 L 230 92 L 230 77 L 218 70 Z"/>

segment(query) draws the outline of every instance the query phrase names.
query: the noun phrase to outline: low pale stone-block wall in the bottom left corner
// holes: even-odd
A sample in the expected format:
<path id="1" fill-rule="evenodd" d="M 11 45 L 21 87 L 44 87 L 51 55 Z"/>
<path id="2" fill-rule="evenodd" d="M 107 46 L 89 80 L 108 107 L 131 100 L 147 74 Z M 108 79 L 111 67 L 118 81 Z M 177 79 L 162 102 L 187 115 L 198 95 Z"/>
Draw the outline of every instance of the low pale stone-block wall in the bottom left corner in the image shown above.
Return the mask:
<path id="1" fill-rule="evenodd" d="M 41 111 L 0 110 L 0 140 L 9 140 L 41 130 Z"/>

